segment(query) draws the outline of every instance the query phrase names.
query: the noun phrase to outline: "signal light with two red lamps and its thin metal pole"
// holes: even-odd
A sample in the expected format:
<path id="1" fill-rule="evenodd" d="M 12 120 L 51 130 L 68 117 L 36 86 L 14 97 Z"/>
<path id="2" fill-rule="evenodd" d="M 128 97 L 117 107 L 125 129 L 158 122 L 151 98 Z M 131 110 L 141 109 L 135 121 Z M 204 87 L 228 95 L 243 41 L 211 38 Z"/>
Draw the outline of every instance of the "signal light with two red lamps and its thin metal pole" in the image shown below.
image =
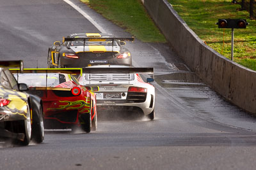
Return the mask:
<path id="1" fill-rule="evenodd" d="M 216 22 L 218 28 L 230 28 L 231 29 L 231 60 L 234 57 L 234 29 L 245 29 L 249 23 L 244 19 L 219 19 Z"/>

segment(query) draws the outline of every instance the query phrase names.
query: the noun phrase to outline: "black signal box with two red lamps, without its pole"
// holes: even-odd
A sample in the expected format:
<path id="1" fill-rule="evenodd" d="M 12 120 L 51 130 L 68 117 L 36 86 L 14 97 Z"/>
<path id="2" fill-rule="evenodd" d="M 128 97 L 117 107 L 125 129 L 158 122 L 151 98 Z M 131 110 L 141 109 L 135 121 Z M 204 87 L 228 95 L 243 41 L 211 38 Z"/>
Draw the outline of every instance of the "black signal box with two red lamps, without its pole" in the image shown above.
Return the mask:
<path id="1" fill-rule="evenodd" d="M 219 28 L 245 29 L 249 23 L 244 19 L 219 19 L 216 24 Z"/>

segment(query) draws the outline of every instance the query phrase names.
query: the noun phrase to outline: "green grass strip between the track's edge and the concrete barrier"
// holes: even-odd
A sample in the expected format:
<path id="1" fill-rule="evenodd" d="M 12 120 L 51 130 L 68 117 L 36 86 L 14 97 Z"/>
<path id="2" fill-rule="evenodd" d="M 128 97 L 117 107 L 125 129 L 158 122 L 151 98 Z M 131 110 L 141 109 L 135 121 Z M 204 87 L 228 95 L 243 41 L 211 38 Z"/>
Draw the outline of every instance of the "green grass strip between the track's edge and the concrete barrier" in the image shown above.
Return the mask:
<path id="1" fill-rule="evenodd" d="M 81 1 L 143 42 L 166 42 L 163 34 L 152 22 L 140 0 Z"/>

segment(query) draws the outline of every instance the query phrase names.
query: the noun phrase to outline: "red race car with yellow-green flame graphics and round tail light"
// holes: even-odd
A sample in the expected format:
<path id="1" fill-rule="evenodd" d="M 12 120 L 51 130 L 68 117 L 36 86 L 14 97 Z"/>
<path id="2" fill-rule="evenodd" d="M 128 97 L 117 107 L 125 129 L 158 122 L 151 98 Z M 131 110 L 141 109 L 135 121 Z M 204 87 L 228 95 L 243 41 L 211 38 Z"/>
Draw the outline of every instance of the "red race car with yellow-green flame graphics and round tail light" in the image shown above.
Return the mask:
<path id="1" fill-rule="evenodd" d="M 97 109 L 93 90 L 97 91 L 99 88 L 79 85 L 72 74 L 67 74 L 70 70 L 72 69 L 24 69 L 22 73 L 11 71 L 19 83 L 26 82 L 28 93 L 41 97 L 45 129 L 81 127 L 85 132 L 95 131 Z M 74 72 L 76 71 L 70 73 Z"/>

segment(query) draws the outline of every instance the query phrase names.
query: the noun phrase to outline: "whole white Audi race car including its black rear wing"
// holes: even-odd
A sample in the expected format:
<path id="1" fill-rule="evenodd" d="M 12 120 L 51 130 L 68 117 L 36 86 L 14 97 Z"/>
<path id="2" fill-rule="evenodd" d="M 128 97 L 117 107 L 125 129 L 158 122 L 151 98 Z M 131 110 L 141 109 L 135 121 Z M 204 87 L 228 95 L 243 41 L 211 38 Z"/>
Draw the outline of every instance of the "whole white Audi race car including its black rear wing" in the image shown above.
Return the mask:
<path id="1" fill-rule="evenodd" d="M 83 68 L 83 74 L 78 78 L 81 85 L 99 86 L 96 93 L 97 110 L 111 109 L 114 111 L 136 111 L 145 117 L 155 118 L 155 88 L 147 83 L 140 74 L 154 74 L 154 68 L 129 66 L 90 66 Z"/>

